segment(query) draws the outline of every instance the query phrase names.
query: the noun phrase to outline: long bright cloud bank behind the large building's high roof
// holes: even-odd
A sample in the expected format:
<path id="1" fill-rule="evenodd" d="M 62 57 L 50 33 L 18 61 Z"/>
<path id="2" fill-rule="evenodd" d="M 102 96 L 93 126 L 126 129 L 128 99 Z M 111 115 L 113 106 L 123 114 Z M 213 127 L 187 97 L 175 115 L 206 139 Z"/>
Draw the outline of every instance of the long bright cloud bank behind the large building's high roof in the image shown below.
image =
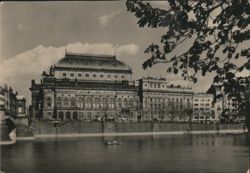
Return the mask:
<path id="1" fill-rule="evenodd" d="M 8 84 L 15 90 L 20 91 L 30 99 L 28 88 L 31 86 L 31 79 L 40 80 L 42 71 L 55 64 L 63 58 L 65 48 L 69 52 L 94 53 L 94 54 L 117 54 L 117 58 L 123 61 L 124 58 L 133 57 L 139 51 L 136 44 L 113 45 L 110 43 L 70 43 L 63 47 L 37 46 L 32 50 L 25 51 L 0 63 L 0 85 Z"/>

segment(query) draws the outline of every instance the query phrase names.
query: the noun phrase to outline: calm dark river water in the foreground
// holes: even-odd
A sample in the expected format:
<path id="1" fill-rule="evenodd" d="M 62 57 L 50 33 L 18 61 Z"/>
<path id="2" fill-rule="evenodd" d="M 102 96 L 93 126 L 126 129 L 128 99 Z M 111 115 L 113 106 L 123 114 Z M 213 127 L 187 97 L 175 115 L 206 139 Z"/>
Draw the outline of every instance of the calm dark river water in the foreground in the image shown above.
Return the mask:
<path id="1" fill-rule="evenodd" d="M 47 138 L 1 146 L 6 173 L 246 173 L 245 135 Z"/>

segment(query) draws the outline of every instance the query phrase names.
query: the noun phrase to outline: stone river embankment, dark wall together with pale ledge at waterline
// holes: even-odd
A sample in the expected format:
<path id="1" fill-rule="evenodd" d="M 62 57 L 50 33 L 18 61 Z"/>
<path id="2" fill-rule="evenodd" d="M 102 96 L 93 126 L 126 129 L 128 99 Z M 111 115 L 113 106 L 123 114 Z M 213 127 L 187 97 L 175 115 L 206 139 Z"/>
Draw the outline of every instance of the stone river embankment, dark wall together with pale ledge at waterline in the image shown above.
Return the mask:
<path id="1" fill-rule="evenodd" d="M 81 121 L 55 125 L 51 121 L 36 121 L 29 128 L 17 128 L 17 140 L 60 137 L 244 134 L 247 129 L 243 127 L 244 124 L 221 124 L 218 128 L 216 124 Z"/>

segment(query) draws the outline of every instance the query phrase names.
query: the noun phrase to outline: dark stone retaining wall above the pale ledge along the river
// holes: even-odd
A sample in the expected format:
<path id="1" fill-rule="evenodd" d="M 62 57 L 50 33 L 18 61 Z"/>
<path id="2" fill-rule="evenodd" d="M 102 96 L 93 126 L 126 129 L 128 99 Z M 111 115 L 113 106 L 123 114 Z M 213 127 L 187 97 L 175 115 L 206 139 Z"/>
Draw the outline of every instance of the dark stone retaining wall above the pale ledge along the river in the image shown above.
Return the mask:
<path id="1" fill-rule="evenodd" d="M 88 134 L 88 133 L 132 133 L 132 132 L 171 132 L 171 131 L 208 131 L 217 130 L 215 124 L 189 123 L 151 123 L 151 122 L 81 122 L 69 121 L 60 123 L 57 127 L 50 121 L 35 121 L 32 123 L 36 134 Z M 242 130 L 243 124 L 221 124 L 220 130 Z"/>

